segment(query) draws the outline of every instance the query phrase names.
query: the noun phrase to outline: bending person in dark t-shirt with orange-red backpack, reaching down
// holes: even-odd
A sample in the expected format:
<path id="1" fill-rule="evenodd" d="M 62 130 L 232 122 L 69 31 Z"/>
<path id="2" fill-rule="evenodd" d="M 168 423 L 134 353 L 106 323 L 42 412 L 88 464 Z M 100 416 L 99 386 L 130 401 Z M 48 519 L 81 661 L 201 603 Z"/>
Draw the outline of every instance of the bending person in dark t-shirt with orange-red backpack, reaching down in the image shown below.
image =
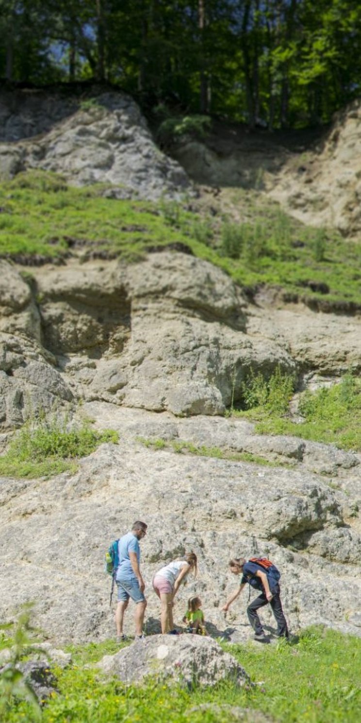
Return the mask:
<path id="1" fill-rule="evenodd" d="M 229 562 L 230 571 L 233 575 L 242 575 L 240 586 L 235 590 L 232 595 L 227 599 L 222 610 L 227 612 L 230 604 L 238 598 L 238 595 L 243 591 L 244 586 L 249 583 L 253 588 L 261 592 L 255 600 L 248 605 L 247 615 L 252 628 L 254 630 L 255 640 L 265 641 L 266 636 L 264 629 L 261 625 L 261 620 L 258 617 L 257 610 L 259 607 L 263 607 L 267 603 L 271 605 L 272 612 L 277 622 L 277 636 L 279 638 L 288 638 L 288 628 L 286 618 L 283 614 L 282 603 L 279 597 L 279 583 L 278 580 L 272 578 L 271 572 L 267 573 L 266 569 L 258 565 L 257 562 L 248 562 L 244 557 L 233 557 Z"/>

